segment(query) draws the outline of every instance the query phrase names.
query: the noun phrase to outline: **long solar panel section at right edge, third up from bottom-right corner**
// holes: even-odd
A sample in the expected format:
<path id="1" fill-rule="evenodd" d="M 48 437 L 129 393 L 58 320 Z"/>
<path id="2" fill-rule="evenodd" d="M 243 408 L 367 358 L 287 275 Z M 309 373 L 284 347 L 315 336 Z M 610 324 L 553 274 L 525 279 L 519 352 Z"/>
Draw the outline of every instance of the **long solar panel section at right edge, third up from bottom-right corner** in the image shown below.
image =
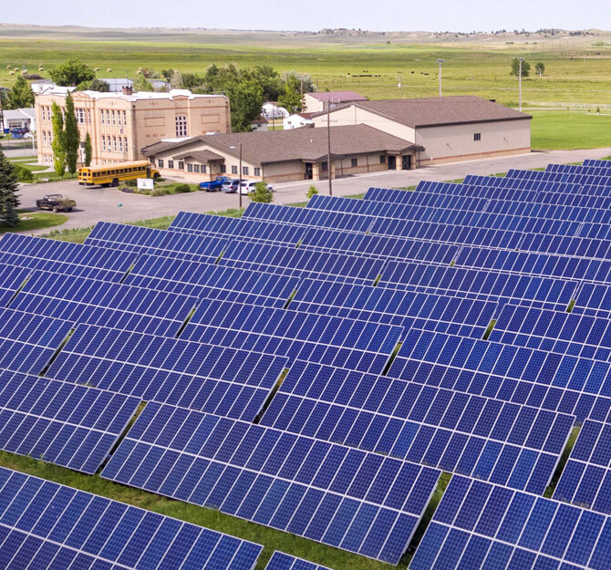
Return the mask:
<path id="1" fill-rule="evenodd" d="M 608 362 L 411 329 L 388 370 L 402 378 L 575 415 L 611 420 Z"/>

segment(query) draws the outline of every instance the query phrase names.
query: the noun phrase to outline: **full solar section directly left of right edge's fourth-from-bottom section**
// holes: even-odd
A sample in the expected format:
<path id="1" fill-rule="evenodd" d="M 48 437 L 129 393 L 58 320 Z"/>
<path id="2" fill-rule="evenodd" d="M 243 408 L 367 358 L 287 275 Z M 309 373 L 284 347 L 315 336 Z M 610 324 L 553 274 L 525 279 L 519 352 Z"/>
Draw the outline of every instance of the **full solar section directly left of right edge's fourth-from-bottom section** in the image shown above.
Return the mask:
<path id="1" fill-rule="evenodd" d="M 497 310 L 497 300 L 398 291 L 379 286 L 327 284 L 305 279 L 289 308 L 319 315 L 412 326 L 481 338 Z"/>

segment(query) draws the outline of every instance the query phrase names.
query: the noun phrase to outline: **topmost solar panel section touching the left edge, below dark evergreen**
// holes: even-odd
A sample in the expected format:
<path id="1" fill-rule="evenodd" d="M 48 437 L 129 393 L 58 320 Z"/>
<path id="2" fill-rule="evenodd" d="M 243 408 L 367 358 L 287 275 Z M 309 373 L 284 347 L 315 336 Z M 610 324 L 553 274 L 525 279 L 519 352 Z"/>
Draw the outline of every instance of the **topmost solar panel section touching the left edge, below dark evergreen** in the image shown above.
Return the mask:
<path id="1" fill-rule="evenodd" d="M 123 279 L 136 257 L 136 254 L 21 233 L 5 233 L 0 238 L 0 264 L 105 281 Z"/>

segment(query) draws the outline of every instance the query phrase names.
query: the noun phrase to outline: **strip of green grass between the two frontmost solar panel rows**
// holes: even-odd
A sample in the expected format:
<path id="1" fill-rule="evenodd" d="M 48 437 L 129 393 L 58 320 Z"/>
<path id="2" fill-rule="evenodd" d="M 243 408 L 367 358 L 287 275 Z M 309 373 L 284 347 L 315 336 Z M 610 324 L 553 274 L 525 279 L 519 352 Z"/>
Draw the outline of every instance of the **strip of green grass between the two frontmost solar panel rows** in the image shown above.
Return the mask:
<path id="1" fill-rule="evenodd" d="M 152 492 L 133 489 L 116 482 L 102 479 L 98 475 L 86 475 L 73 472 L 51 463 L 38 461 L 0 451 L 0 465 L 36 475 L 48 481 L 58 482 L 82 491 L 93 492 L 121 503 L 129 503 L 155 513 L 172 516 L 188 523 L 201 524 L 222 533 L 231 534 L 245 540 L 264 545 L 264 551 L 256 565 L 256 570 L 263 570 L 274 550 L 294 554 L 317 564 L 326 565 L 333 570 L 390 570 L 393 567 L 407 568 L 407 562 L 391 566 L 375 560 L 369 560 L 357 554 L 340 551 L 325 544 L 314 543 L 294 534 L 275 531 L 260 524 L 249 523 L 228 514 L 212 509 L 199 507 L 181 501 L 161 497 Z"/>

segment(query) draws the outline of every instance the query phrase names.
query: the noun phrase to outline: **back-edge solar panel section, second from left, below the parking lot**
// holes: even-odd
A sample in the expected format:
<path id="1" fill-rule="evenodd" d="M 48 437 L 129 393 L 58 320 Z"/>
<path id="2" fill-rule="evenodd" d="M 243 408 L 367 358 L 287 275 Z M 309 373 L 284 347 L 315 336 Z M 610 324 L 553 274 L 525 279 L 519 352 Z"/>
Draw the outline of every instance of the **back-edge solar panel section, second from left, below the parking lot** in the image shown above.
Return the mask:
<path id="1" fill-rule="evenodd" d="M 223 253 L 227 239 L 204 238 L 191 233 L 167 232 L 123 223 L 98 222 L 89 233 L 85 244 L 121 252 L 214 263 Z"/>

